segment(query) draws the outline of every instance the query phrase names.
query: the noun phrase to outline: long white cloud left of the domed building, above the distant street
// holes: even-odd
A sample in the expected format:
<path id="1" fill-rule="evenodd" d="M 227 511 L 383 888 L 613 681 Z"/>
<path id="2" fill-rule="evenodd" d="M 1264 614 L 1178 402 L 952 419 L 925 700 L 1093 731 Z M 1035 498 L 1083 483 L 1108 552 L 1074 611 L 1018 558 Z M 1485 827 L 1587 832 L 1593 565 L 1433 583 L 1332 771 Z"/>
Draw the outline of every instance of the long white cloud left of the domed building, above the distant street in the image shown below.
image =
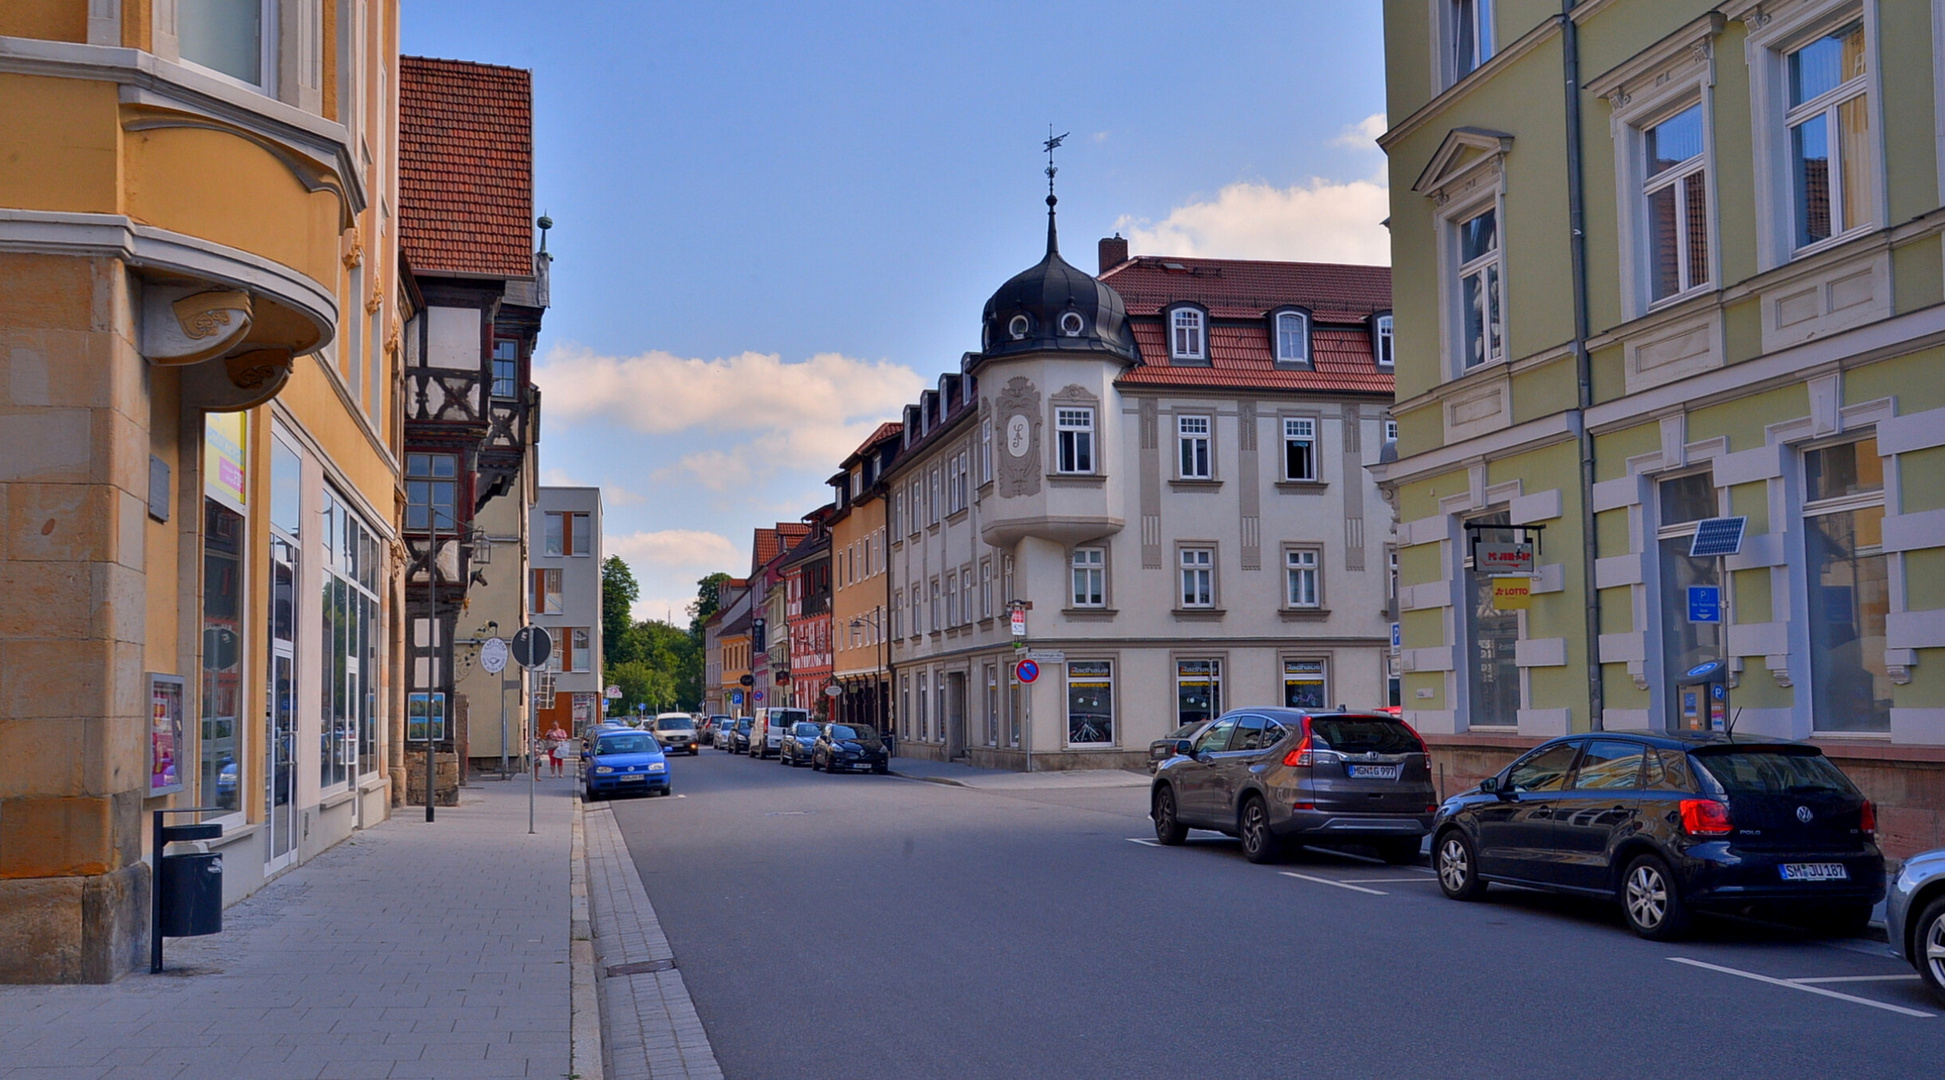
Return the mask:
<path id="1" fill-rule="evenodd" d="M 760 432 L 751 442 L 768 461 L 813 469 L 836 467 L 883 416 L 924 389 L 902 364 L 836 352 L 803 362 L 774 352 L 696 360 L 661 350 L 601 356 L 576 346 L 554 346 L 535 383 L 554 416 L 650 436 Z"/>

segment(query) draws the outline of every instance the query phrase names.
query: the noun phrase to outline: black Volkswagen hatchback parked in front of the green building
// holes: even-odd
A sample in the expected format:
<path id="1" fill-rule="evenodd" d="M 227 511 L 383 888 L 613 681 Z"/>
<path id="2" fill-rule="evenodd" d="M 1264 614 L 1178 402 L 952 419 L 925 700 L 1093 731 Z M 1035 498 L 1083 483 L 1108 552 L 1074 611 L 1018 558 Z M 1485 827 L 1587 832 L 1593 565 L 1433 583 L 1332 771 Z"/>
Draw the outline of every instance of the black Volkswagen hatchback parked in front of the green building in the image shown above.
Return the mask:
<path id="1" fill-rule="evenodd" d="M 1453 899 L 1488 882 L 1612 897 L 1651 940 L 1696 911 L 1856 934 L 1885 895 L 1871 802 L 1809 743 L 1589 734 L 1540 743 L 1439 808 L 1432 864 Z"/>

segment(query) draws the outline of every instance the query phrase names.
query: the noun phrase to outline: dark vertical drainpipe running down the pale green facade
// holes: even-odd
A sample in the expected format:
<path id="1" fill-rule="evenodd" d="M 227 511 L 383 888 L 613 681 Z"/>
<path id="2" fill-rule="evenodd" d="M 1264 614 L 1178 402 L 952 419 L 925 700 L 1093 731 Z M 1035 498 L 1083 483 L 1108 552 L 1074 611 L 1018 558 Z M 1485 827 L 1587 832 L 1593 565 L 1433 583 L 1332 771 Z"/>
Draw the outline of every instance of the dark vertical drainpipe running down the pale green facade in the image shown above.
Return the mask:
<path id="1" fill-rule="evenodd" d="M 1574 430 L 1579 438 L 1581 481 L 1581 576 L 1587 582 L 1587 720 L 1601 730 L 1607 693 L 1601 685 L 1601 592 L 1595 588 L 1599 543 L 1593 520 L 1595 453 L 1593 432 L 1587 430 L 1587 409 L 1593 407 L 1593 356 L 1587 352 L 1587 193 L 1581 185 L 1581 88 L 1579 88 L 1579 27 L 1574 25 L 1574 4 L 1560 0 L 1560 51 L 1566 74 L 1566 142 L 1568 142 L 1568 247 L 1574 257 L 1574 374 L 1579 401 L 1574 409 Z"/>

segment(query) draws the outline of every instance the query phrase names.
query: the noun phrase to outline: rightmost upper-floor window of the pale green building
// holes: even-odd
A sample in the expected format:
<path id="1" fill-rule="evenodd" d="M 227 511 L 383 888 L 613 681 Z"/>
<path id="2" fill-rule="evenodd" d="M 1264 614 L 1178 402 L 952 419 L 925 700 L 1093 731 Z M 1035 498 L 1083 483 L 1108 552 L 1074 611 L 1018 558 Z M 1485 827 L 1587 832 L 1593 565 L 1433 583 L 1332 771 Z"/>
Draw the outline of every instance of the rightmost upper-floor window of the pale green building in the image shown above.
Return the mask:
<path id="1" fill-rule="evenodd" d="M 1863 23 L 1789 53 L 1791 200 L 1795 245 L 1809 247 L 1873 220 L 1871 101 Z"/>

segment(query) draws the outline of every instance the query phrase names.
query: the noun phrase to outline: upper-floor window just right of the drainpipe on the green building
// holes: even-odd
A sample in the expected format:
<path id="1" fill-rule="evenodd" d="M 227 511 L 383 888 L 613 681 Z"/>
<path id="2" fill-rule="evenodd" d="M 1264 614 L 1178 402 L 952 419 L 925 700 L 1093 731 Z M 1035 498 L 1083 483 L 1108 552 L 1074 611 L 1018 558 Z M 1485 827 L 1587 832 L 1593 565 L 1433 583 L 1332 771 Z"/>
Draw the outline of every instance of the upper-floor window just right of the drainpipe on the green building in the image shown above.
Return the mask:
<path id="1" fill-rule="evenodd" d="M 1647 200 L 1647 294 L 1667 300 L 1710 282 L 1708 169 L 1702 105 L 1642 132 Z"/>

